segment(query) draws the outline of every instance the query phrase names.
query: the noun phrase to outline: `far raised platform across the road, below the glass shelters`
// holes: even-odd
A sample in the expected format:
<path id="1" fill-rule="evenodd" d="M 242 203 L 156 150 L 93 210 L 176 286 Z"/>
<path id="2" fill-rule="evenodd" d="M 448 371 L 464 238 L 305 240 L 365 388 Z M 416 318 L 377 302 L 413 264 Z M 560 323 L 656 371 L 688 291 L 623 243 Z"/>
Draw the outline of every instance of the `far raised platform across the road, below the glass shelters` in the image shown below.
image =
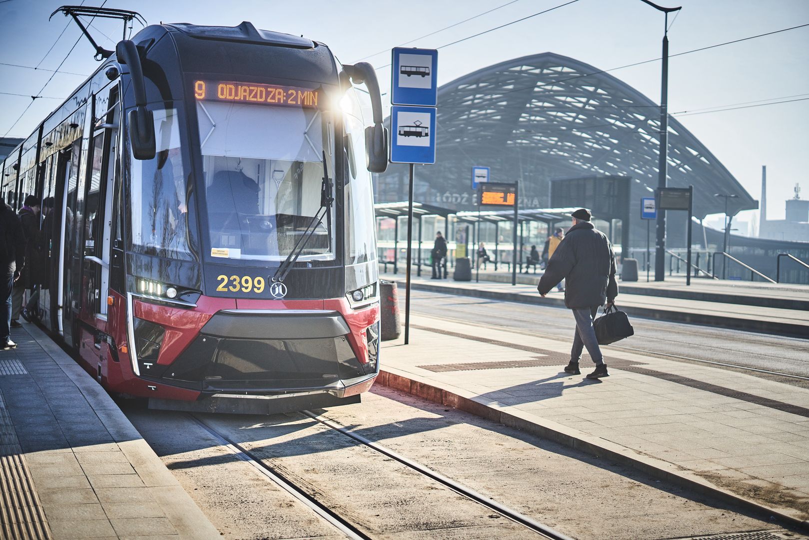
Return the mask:
<path id="1" fill-rule="evenodd" d="M 518 274 L 517 284 L 511 285 L 511 274 L 506 272 L 481 271 L 480 281 L 476 281 L 472 271 L 472 281 L 455 281 L 451 272 L 448 279 L 430 279 L 429 270 L 422 270 L 421 277 L 415 272 L 411 274 L 411 287 L 418 291 L 564 307 L 564 293 L 555 288 L 545 298 L 537 293 L 541 275 L 541 272 Z M 384 274 L 380 270 L 380 278 L 396 281 L 402 295 L 404 274 Z M 809 336 L 809 285 L 714 279 L 710 282 L 692 279 L 691 283 L 687 287 L 684 278 L 668 276 L 663 282 L 619 280 L 616 304 L 622 311 L 637 317 L 764 334 Z"/>

